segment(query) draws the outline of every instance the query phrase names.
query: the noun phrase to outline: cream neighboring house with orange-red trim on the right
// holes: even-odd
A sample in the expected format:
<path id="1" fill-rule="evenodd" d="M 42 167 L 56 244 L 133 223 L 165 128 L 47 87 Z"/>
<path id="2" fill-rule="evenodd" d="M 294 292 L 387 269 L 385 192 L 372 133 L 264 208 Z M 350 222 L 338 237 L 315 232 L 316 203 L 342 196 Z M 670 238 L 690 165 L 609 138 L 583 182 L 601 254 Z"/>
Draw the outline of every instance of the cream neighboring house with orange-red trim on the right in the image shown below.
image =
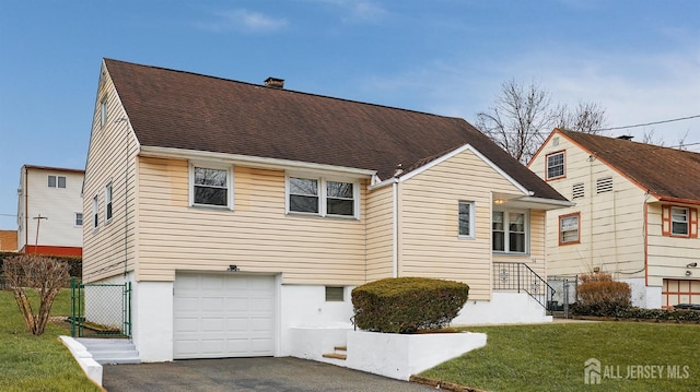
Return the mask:
<path id="1" fill-rule="evenodd" d="M 700 154 L 555 129 L 529 168 L 575 206 L 547 214 L 547 274 L 614 274 L 645 308 L 700 304 Z"/>

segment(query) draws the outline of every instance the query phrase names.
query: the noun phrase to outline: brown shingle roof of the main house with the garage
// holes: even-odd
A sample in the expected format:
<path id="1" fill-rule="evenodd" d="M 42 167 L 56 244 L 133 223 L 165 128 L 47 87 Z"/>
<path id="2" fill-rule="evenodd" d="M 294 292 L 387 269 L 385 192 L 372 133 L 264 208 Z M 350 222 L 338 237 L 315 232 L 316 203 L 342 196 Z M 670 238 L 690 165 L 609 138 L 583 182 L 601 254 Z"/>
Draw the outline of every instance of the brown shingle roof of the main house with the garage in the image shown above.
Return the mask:
<path id="1" fill-rule="evenodd" d="M 141 145 L 375 170 L 470 144 L 535 197 L 565 200 L 460 118 L 105 59 Z"/>

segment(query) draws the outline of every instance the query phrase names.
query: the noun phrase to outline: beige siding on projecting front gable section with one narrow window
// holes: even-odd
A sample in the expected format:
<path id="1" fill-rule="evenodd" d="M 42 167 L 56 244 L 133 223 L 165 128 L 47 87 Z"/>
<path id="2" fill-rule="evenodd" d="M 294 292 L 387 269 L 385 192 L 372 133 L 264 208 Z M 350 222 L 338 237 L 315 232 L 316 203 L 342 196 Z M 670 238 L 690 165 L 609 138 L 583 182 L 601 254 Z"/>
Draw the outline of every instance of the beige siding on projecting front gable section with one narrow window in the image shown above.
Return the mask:
<path id="1" fill-rule="evenodd" d="M 518 193 L 470 151 L 401 182 L 399 276 L 464 282 L 469 299 L 489 299 L 492 191 Z M 475 202 L 474 239 L 458 237 L 459 201 Z"/>

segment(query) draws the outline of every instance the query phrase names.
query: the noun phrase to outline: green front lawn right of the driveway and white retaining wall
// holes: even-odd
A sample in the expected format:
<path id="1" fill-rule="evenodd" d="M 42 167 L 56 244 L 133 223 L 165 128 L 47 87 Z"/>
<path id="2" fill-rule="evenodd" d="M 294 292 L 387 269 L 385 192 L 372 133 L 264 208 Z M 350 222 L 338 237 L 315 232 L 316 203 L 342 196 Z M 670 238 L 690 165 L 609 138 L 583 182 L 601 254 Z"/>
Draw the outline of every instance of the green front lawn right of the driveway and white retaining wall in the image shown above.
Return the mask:
<path id="1" fill-rule="evenodd" d="M 468 328 L 487 346 L 421 373 L 488 391 L 700 391 L 700 325 L 637 322 L 552 323 Z M 584 363 L 596 358 L 603 377 L 584 383 Z M 628 376 L 628 367 L 664 366 L 661 378 Z M 670 379 L 668 365 L 687 366 Z M 609 366 L 609 367 L 608 367 Z M 619 371 L 617 370 L 619 368 Z M 635 369 L 635 368 L 634 368 Z M 605 376 L 605 375 L 604 375 Z"/>

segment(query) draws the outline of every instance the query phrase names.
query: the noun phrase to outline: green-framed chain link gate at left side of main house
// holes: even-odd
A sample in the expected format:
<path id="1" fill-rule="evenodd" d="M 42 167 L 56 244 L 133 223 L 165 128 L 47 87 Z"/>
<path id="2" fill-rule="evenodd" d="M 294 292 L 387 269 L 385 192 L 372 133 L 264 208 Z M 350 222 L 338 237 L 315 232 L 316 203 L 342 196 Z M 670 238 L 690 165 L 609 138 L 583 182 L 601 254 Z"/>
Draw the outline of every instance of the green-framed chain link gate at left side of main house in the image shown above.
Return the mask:
<path id="1" fill-rule="evenodd" d="M 71 280 L 73 337 L 131 337 L 131 282 L 81 283 Z"/>

